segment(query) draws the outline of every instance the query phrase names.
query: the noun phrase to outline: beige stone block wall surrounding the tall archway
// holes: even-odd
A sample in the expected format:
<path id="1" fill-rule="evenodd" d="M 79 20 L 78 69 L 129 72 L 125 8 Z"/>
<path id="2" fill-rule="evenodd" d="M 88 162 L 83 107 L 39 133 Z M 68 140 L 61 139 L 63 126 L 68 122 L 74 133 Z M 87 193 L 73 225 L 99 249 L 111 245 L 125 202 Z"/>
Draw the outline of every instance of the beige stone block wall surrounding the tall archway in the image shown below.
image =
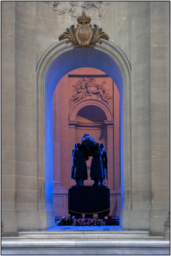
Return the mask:
<path id="1" fill-rule="evenodd" d="M 163 233 L 169 209 L 169 3 L 109 4 L 92 24 L 103 28 L 131 63 L 123 228 Z M 43 129 L 37 90 L 43 88 L 36 84 L 36 65 L 71 24 L 77 24 L 71 13 L 57 15 L 44 1 L 2 1 L 4 232 L 47 227 L 43 156 L 37 150 Z"/>

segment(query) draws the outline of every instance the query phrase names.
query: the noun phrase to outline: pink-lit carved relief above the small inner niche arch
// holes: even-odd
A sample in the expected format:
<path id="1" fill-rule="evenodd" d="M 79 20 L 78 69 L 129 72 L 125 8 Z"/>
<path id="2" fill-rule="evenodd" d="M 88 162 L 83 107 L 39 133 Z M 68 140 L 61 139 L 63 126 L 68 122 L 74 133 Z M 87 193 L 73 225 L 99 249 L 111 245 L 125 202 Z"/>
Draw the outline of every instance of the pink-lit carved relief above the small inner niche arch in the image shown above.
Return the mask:
<path id="1" fill-rule="evenodd" d="M 78 101 L 84 98 L 95 98 L 102 100 L 108 105 L 110 96 L 105 88 L 105 81 L 102 84 L 96 83 L 96 79 L 93 77 L 82 77 L 78 79 L 77 83 L 72 85 L 73 95 L 70 100 L 70 106 L 76 104 Z"/>

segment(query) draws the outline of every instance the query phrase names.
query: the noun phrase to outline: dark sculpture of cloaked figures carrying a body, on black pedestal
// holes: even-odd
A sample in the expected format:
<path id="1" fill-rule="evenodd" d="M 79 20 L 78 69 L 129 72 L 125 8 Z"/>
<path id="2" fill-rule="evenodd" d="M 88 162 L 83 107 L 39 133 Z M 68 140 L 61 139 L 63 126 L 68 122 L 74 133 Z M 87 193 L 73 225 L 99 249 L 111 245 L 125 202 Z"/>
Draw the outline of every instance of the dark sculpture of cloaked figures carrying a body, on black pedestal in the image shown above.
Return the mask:
<path id="1" fill-rule="evenodd" d="M 91 161 L 91 180 L 94 180 L 93 186 L 104 186 L 103 180 L 106 179 L 105 170 L 108 165 L 107 152 L 103 149 L 103 143 L 96 141 L 89 135 L 84 134 L 81 143 L 74 145 L 72 150 L 72 169 L 71 179 L 75 180 L 75 186 L 84 186 L 84 180 L 88 179 L 86 161 L 92 156 Z"/>

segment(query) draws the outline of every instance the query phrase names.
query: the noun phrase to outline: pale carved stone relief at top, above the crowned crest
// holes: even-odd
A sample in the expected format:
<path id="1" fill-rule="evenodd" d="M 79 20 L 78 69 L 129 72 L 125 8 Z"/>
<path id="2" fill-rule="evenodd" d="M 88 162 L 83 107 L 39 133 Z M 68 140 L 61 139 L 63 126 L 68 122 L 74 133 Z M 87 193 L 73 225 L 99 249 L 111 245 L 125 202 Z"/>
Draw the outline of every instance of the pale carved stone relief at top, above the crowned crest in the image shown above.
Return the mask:
<path id="1" fill-rule="evenodd" d="M 109 1 L 44 1 L 57 15 L 70 13 L 71 18 L 77 18 L 85 12 L 85 15 L 93 17 L 93 20 L 101 19 L 111 10 Z"/>

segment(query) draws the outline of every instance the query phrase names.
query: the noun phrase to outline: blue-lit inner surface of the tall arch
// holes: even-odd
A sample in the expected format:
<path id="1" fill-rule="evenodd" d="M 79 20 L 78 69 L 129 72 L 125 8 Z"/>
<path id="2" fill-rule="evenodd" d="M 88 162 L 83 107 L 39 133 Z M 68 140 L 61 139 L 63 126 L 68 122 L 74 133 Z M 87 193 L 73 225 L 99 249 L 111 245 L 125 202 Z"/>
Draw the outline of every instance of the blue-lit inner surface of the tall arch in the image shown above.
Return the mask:
<path id="1" fill-rule="evenodd" d="M 123 76 L 113 58 L 94 48 L 75 48 L 60 54 L 48 67 L 45 76 L 45 209 L 52 211 L 53 188 L 53 132 L 52 99 L 60 79 L 76 68 L 97 68 L 110 76 L 120 94 L 121 122 L 121 211 L 124 207 L 124 141 L 123 141 Z M 66 92 L 67 93 L 67 92 Z M 50 227 L 47 218 L 47 227 Z"/>

